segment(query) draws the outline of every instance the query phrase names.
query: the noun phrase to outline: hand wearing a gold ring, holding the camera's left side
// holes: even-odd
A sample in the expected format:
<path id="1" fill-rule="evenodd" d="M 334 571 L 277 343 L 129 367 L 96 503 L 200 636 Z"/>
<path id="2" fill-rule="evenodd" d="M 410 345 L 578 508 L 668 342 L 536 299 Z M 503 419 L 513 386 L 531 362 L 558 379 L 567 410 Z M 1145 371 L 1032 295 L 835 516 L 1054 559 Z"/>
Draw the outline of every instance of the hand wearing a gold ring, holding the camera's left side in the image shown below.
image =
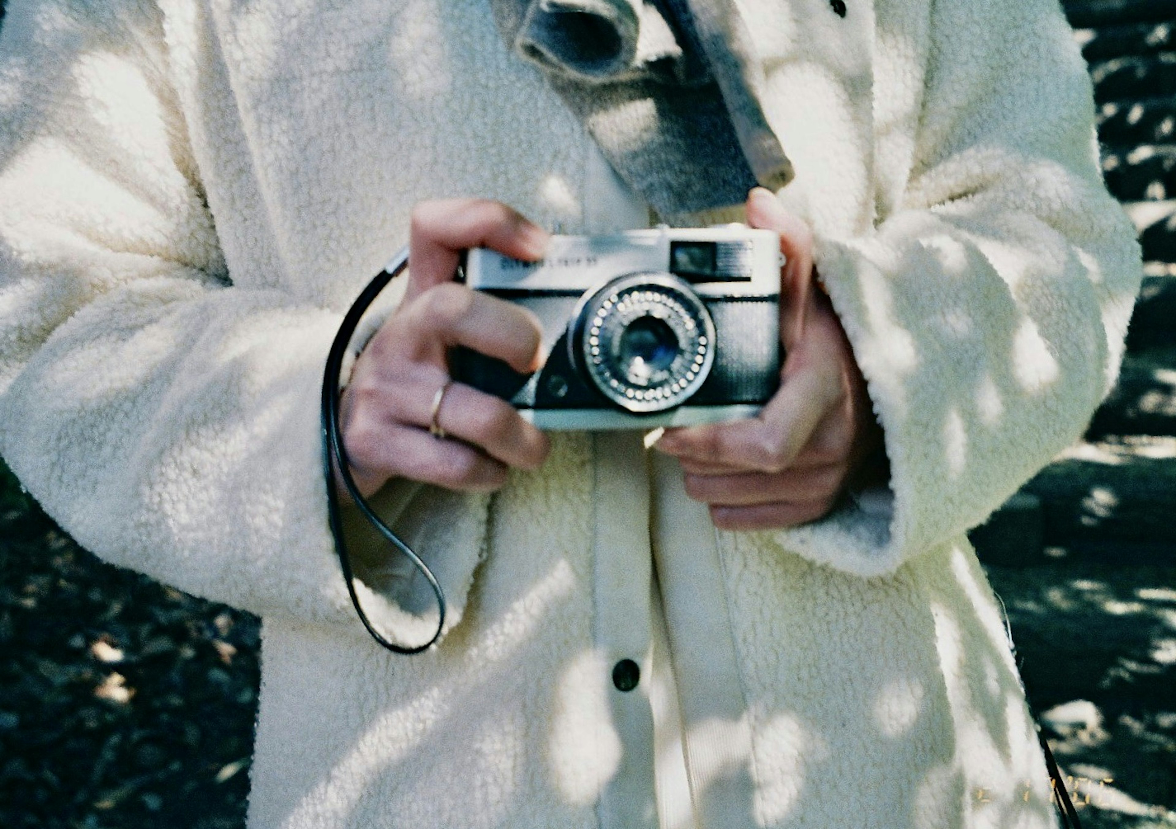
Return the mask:
<path id="1" fill-rule="evenodd" d="M 453 281 L 462 250 L 486 247 L 514 259 L 543 255 L 549 236 L 496 201 L 443 199 L 413 210 L 408 286 L 396 312 L 360 354 L 340 406 L 343 446 L 365 497 L 393 477 L 488 492 L 510 467 L 536 469 L 542 432 L 500 397 L 452 383 L 429 434 L 432 406 L 449 382 L 447 353 L 466 346 L 516 372 L 540 367 L 540 327 L 529 312 Z"/>

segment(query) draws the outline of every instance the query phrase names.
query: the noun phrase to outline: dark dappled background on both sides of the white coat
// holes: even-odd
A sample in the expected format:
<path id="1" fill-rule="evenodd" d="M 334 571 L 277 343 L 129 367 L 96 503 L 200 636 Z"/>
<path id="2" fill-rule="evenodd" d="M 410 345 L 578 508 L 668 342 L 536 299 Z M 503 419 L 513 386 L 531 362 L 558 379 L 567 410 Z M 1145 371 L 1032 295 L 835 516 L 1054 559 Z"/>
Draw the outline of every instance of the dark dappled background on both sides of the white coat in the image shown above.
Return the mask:
<path id="1" fill-rule="evenodd" d="M 973 537 L 1084 825 L 1160 829 L 1176 827 L 1176 0 L 1063 5 L 1148 275 L 1085 441 Z M 96 561 L 2 463 L 0 653 L 0 825 L 243 827 L 256 619 Z"/>

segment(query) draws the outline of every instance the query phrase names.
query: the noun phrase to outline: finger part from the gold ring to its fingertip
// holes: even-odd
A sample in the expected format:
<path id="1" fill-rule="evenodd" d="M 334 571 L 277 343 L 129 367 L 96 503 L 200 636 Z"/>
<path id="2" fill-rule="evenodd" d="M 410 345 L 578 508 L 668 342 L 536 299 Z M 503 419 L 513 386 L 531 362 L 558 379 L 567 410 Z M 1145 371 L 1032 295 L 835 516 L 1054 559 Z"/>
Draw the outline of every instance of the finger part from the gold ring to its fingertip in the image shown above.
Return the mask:
<path id="1" fill-rule="evenodd" d="M 523 420 L 508 402 L 462 383 L 453 383 L 446 390 L 436 423 L 449 436 L 473 443 L 520 469 L 537 469 L 550 448 L 547 435 Z"/>

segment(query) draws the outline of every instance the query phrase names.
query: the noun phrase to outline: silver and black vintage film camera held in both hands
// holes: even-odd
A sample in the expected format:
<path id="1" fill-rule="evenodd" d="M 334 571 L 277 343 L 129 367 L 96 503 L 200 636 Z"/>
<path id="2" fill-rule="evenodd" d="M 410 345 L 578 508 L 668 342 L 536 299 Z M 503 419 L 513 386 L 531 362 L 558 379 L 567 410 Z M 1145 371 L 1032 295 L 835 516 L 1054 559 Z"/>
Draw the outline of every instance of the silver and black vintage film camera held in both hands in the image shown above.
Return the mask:
<path id="1" fill-rule="evenodd" d="M 543 367 L 469 349 L 453 376 L 543 429 L 648 429 L 754 415 L 780 382 L 780 239 L 741 225 L 552 238 L 539 262 L 475 248 L 466 285 L 539 317 Z"/>

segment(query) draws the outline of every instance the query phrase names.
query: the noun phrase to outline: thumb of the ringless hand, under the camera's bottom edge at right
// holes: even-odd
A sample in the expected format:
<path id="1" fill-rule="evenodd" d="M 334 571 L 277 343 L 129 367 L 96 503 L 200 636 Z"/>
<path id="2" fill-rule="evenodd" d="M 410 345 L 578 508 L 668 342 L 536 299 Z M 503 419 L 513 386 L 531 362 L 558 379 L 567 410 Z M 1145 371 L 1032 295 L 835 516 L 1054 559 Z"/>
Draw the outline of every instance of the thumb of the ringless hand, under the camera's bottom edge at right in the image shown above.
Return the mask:
<path id="1" fill-rule="evenodd" d="M 796 460 L 835 401 L 822 373 L 799 372 L 756 417 L 675 429 L 654 446 L 683 461 L 779 473 Z"/>

